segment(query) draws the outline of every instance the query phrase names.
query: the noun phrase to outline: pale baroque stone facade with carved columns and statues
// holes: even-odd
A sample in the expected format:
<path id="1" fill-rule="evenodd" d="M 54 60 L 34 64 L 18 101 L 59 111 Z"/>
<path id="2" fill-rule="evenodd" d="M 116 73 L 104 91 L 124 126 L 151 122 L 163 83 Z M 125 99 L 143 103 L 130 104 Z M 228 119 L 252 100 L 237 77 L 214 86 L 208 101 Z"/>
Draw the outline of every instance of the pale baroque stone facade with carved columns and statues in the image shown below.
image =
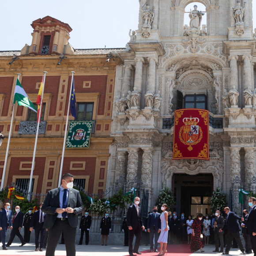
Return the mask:
<path id="1" fill-rule="evenodd" d="M 252 0 L 241 5 L 235 0 L 199 2 L 205 12 L 194 6 L 188 14 L 190 0 L 139 0 L 136 42 L 118 53 L 124 66 L 116 75 L 114 97 L 122 97 L 122 92 L 128 102 L 131 95 L 136 101 L 124 113 L 113 112 L 115 143 L 110 147 L 107 183 L 113 184 L 120 168 L 125 169 L 119 152 L 126 152 L 126 178 L 138 176 L 149 189 L 149 208 L 163 186 L 175 191 L 177 175 L 210 175 L 211 192 L 220 187 L 229 197 L 231 189 L 230 207 L 239 210 L 238 192 L 233 190 L 248 188 L 256 176 Z M 184 24 L 184 15 L 189 24 Z M 161 101 L 155 108 L 157 93 Z M 210 160 L 172 160 L 173 111 L 185 108 L 186 97 L 195 94 L 205 97 L 205 109 L 214 120 L 209 128 Z M 181 201 L 174 209 L 180 213 Z"/>

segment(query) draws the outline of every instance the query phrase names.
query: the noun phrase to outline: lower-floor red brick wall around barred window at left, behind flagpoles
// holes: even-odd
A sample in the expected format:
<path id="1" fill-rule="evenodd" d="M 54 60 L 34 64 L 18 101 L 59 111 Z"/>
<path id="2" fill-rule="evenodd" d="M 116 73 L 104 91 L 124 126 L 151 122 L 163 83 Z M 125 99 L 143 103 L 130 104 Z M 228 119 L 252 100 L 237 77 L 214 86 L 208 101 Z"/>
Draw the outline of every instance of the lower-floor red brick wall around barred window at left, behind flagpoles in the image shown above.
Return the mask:
<path id="1" fill-rule="evenodd" d="M 36 192 L 41 193 L 42 184 L 44 181 L 44 171 L 45 171 L 45 157 L 36 157 L 35 158 L 35 167 L 33 175 L 38 175 L 38 184 L 36 186 Z M 30 170 L 19 170 L 20 162 L 32 162 L 32 157 L 12 157 L 10 169 L 8 173 L 7 185 L 11 185 L 12 176 L 19 176 L 20 179 L 23 178 L 23 175 L 30 175 Z M 43 191 L 44 192 L 44 191 Z"/>

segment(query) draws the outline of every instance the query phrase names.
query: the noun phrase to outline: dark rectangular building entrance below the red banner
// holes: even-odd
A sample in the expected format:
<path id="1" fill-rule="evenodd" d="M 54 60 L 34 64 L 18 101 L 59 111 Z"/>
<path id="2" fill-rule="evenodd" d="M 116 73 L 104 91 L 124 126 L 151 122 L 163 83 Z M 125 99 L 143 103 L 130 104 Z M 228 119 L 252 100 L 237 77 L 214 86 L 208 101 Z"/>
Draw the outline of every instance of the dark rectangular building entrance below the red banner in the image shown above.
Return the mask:
<path id="1" fill-rule="evenodd" d="M 176 204 L 173 211 L 176 211 L 177 215 L 184 212 L 186 217 L 195 217 L 198 212 L 203 215 L 209 214 L 212 191 L 212 174 L 174 174 L 173 196 Z"/>

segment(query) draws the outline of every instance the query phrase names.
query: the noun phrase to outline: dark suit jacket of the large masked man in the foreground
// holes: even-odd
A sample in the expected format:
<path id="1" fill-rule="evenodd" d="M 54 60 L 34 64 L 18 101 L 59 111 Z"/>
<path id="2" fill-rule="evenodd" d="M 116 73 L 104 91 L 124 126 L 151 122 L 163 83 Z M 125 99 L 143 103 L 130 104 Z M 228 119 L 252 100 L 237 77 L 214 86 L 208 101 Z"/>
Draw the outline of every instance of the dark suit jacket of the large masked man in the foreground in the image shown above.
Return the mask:
<path id="1" fill-rule="evenodd" d="M 68 222 L 73 228 L 78 226 L 78 215 L 83 211 L 83 202 L 78 190 L 69 188 L 68 207 L 73 208 L 76 213 L 68 213 Z M 50 190 L 45 198 L 41 210 L 46 213 L 44 227 L 51 229 L 57 218 L 56 209 L 60 208 L 60 188 Z"/>

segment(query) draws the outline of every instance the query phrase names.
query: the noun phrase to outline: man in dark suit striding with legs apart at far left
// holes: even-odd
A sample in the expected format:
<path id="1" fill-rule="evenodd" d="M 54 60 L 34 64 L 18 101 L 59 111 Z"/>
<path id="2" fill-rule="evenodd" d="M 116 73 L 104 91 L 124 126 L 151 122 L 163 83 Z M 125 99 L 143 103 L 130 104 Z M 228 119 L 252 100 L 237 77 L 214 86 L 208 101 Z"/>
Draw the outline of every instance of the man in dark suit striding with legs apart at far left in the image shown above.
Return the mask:
<path id="1" fill-rule="evenodd" d="M 9 238 L 9 241 L 7 243 L 6 246 L 10 246 L 14 237 L 17 236 L 19 237 L 20 241 L 21 241 L 21 245 L 20 246 L 23 246 L 26 244 L 26 242 L 24 241 L 22 235 L 19 233 L 19 230 L 21 230 L 22 228 L 22 223 L 23 223 L 23 212 L 20 211 L 20 207 L 19 205 L 17 205 L 15 207 L 15 215 L 13 216 L 13 219 L 12 219 L 12 230 L 11 230 L 11 234 L 10 234 L 10 238 Z"/>

